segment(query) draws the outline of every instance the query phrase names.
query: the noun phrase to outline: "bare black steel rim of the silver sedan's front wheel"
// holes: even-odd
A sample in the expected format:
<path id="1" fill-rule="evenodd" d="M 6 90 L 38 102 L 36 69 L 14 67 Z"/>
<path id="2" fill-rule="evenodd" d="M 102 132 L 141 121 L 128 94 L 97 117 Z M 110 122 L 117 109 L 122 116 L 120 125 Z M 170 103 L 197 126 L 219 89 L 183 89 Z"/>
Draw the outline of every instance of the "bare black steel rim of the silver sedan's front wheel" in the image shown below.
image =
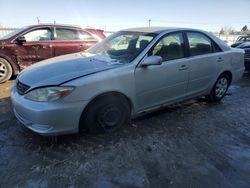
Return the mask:
<path id="1" fill-rule="evenodd" d="M 110 130 L 119 124 L 121 116 L 121 111 L 117 107 L 109 106 L 98 114 L 97 119 L 103 129 Z"/>

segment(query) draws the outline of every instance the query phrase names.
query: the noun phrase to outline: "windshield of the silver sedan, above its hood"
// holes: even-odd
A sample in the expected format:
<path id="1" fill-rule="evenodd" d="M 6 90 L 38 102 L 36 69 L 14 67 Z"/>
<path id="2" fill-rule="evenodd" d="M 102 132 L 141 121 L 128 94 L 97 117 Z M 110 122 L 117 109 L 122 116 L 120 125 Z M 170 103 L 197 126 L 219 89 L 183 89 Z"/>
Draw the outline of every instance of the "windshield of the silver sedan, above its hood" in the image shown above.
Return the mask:
<path id="1" fill-rule="evenodd" d="M 120 63 L 129 63 L 148 46 L 155 36 L 154 33 L 121 31 L 109 36 L 87 52 L 105 56 Z"/>

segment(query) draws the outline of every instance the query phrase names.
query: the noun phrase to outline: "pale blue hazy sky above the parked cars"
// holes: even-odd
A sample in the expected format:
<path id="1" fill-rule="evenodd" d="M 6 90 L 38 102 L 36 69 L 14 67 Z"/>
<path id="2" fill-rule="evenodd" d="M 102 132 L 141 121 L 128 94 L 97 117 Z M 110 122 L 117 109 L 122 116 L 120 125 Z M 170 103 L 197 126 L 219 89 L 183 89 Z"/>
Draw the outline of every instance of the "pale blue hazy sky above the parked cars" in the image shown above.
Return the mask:
<path id="1" fill-rule="evenodd" d="M 76 24 L 107 30 L 152 26 L 218 31 L 250 27 L 250 0 L 0 0 L 0 25 Z"/>

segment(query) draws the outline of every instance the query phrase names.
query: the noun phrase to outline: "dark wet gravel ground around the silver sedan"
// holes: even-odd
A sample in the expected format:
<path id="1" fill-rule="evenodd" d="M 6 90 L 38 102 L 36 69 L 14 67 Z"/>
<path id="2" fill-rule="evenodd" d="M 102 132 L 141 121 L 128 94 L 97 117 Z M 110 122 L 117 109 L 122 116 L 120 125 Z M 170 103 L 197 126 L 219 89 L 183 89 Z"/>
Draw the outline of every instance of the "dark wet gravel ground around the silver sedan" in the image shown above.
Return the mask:
<path id="1" fill-rule="evenodd" d="M 0 188 L 250 187 L 250 75 L 220 104 L 187 101 L 119 131 L 62 136 L 23 127 L 0 85 Z"/>

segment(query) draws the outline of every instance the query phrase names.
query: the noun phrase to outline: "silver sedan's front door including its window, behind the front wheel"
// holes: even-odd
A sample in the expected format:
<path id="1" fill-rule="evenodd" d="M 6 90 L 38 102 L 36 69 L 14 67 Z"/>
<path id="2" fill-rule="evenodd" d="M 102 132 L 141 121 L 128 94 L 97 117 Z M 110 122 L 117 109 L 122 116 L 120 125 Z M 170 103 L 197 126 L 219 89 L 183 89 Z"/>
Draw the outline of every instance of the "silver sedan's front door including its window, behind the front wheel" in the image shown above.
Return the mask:
<path id="1" fill-rule="evenodd" d="M 135 70 L 137 108 L 144 110 L 186 96 L 188 85 L 187 59 L 182 33 L 168 34 L 153 47 L 148 55 L 161 56 L 161 65 Z"/>

